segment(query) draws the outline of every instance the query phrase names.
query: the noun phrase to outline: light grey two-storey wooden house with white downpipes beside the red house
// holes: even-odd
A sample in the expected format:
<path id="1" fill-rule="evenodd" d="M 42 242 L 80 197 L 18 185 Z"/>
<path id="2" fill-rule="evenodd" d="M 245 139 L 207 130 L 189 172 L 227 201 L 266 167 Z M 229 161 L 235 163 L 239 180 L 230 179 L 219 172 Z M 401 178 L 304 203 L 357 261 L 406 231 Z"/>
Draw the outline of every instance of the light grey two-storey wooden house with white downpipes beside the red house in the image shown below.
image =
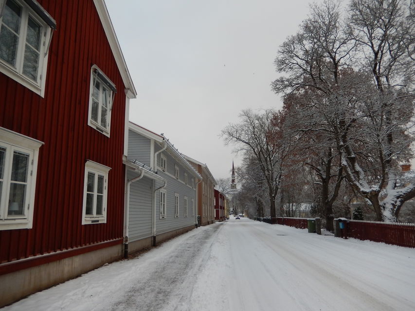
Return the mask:
<path id="1" fill-rule="evenodd" d="M 201 176 L 165 138 L 129 122 L 125 255 L 195 228 Z"/>

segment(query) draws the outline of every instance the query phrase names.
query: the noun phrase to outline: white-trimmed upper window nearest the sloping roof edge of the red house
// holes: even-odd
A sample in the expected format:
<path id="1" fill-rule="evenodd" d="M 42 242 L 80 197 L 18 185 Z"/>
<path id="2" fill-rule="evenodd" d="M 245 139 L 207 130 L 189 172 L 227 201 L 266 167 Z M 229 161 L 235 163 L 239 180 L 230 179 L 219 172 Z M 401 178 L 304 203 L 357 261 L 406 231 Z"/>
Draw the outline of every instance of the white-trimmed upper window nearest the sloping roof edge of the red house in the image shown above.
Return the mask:
<path id="1" fill-rule="evenodd" d="M 109 137 L 115 85 L 96 66 L 91 69 L 88 125 Z"/>

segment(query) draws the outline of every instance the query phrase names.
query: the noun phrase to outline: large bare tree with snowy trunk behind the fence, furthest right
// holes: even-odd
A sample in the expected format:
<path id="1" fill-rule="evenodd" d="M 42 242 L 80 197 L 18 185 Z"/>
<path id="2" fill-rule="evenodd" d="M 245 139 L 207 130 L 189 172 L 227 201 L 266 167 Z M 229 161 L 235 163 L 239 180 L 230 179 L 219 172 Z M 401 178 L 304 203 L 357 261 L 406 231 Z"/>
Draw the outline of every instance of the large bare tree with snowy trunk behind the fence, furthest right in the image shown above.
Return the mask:
<path id="1" fill-rule="evenodd" d="M 312 6 L 275 60 L 285 75 L 272 83 L 274 91 L 305 97 L 312 119 L 303 131 L 335 142 L 331 154 L 338 153 L 339 170 L 371 202 L 378 220 L 396 220 L 415 195 L 413 181 L 397 178 L 414 140 L 408 18 L 398 0 L 352 0 L 345 23 L 339 2 L 326 0 Z"/>

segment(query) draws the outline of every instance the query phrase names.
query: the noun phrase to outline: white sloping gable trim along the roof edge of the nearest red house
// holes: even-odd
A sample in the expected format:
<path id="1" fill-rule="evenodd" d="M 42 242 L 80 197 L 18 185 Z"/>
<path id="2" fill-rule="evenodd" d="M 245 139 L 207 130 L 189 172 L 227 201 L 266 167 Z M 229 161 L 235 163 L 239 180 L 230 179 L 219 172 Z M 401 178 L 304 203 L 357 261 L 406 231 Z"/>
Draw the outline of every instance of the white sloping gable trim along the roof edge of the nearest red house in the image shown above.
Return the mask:
<path id="1" fill-rule="evenodd" d="M 104 27 L 105 34 L 107 35 L 109 46 L 111 47 L 115 62 L 117 63 L 121 77 L 123 78 L 124 85 L 126 86 L 126 90 L 128 90 L 126 92 L 126 96 L 130 99 L 136 98 L 137 91 L 128 71 L 126 60 L 124 58 L 123 52 L 121 51 L 117 35 L 115 35 L 114 27 L 112 26 L 111 18 L 108 14 L 107 6 L 105 5 L 104 0 L 94 0 L 94 4 L 99 18 L 101 19 L 102 26 Z"/>

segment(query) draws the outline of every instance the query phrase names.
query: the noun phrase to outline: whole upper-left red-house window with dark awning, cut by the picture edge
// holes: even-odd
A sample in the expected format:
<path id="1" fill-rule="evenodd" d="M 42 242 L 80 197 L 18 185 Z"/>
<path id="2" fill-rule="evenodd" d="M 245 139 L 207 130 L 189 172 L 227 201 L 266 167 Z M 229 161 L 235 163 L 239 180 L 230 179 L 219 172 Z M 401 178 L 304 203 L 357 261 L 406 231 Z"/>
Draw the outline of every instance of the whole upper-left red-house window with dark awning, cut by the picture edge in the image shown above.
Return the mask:
<path id="1" fill-rule="evenodd" d="M 34 0 L 0 0 L 0 71 L 44 97 L 54 19 Z"/>

